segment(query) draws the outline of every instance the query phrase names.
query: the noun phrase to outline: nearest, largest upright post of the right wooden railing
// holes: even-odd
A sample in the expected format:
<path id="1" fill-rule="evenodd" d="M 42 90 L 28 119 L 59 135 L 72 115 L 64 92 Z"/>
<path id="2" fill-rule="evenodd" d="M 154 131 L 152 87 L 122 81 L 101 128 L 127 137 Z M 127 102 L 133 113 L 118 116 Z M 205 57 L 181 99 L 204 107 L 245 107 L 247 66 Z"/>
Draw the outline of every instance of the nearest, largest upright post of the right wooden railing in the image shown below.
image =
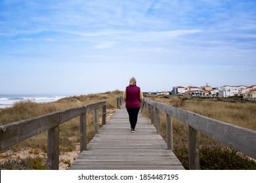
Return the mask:
<path id="1" fill-rule="evenodd" d="M 188 125 L 188 154 L 190 170 L 200 169 L 198 131 Z"/>

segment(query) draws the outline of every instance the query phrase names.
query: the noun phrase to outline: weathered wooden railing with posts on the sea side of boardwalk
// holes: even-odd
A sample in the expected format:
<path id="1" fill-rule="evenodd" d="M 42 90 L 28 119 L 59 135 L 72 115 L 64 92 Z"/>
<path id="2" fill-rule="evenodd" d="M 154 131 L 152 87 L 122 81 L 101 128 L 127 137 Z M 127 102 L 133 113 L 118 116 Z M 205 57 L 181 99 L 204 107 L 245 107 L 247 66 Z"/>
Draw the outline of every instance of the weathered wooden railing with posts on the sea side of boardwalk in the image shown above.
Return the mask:
<path id="1" fill-rule="evenodd" d="M 98 110 L 102 108 L 102 125 L 106 124 L 106 101 L 83 105 L 46 114 L 36 118 L 13 122 L 0 126 L 0 152 L 25 141 L 30 137 L 48 131 L 47 169 L 57 170 L 59 167 L 59 133 L 60 124 L 80 116 L 80 152 L 87 150 L 87 112 L 95 110 L 95 134 L 98 133 Z"/>

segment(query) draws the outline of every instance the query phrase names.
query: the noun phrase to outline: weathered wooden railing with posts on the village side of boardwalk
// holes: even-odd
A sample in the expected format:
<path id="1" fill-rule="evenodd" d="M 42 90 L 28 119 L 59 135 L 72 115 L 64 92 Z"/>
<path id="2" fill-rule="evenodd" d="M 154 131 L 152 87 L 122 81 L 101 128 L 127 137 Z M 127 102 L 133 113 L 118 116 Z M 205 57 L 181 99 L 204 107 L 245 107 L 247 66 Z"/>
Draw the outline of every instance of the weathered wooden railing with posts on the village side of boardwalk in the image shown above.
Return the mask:
<path id="1" fill-rule="evenodd" d="M 167 149 L 173 149 L 173 127 L 171 117 L 188 124 L 188 152 L 190 169 L 200 169 L 200 158 L 198 148 L 198 132 L 242 152 L 256 159 L 256 131 L 227 124 L 219 120 L 207 118 L 200 114 L 157 103 L 144 99 L 144 105 L 148 108 L 148 116 L 151 123 L 156 122 L 156 130 L 161 131 L 160 110 L 166 113 L 166 141 Z M 154 117 L 155 116 L 155 117 Z M 156 121 L 155 121 L 156 120 Z"/>

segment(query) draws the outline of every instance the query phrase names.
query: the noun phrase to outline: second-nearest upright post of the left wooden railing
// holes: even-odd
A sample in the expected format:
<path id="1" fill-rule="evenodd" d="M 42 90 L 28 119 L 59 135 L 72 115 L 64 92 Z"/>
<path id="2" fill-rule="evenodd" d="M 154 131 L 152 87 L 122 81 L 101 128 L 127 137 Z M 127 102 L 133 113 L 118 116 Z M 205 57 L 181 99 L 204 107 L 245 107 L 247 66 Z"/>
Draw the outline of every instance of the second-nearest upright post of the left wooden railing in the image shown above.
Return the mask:
<path id="1" fill-rule="evenodd" d="M 80 115 L 80 152 L 87 150 L 87 120 L 86 110 Z"/>

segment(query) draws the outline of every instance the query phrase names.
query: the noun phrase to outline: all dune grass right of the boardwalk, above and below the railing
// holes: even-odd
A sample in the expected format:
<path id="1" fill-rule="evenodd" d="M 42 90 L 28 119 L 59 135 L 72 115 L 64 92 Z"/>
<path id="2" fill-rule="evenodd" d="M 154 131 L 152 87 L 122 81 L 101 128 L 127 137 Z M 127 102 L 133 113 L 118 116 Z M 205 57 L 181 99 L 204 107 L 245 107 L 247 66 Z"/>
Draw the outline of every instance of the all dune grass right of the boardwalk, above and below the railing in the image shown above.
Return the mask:
<path id="1" fill-rule="evenodd" d="M 256 103 L 239 101 L 219 101 L 213 99 L 197 99 L 178 96 L 147 95 L 158 103 L 183 108 L 209 118 L 256 130 Z M 161 135 L 166 138 L 165 113 L 160 112 Z M 144 110 L 146 116 L 146 110 Z M 188 163 L 188 125 L 172 118 L 173 121 L 173 152 L 185 169 Z M 256 169 L 256 161 L 236 150 L 227 148 L 220 142 L 200 133 L 200 169 Z"/>

